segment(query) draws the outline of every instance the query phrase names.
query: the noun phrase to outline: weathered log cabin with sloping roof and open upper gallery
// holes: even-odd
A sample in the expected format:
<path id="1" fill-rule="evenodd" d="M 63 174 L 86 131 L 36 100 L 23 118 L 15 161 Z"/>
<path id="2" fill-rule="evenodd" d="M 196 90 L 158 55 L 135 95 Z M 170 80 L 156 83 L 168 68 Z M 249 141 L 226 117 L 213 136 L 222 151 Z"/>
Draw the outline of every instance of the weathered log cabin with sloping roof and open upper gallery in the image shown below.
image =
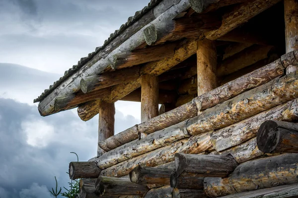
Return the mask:
<path id="1" fill-rule="evenodd" d="M 151 0 L 34 102 L 99 114 L 79 198 L 295 198 L 297 68 L 298 0 Z"/>

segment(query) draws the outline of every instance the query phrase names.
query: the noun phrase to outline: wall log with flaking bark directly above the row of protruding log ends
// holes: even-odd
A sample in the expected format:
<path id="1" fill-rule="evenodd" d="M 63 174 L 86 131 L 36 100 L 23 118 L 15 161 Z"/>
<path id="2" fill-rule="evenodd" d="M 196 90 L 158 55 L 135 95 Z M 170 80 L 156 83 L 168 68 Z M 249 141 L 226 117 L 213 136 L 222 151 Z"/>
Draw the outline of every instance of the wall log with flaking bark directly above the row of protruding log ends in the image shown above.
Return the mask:
<path id="1" fill-rule="evenodd" d="M 114 166 L 102 170 L 101 175 L 110 177 L 122 177 L 128 175 L 138 164 L 145 166 L 157 166 L 174 160 L 176 152 L 197 154 L 212 150 L 210 141 L 211 133 L 197 135 L 172 143 L 163 148 L 157 148 L 143 155 L 131 158 Z M 168 166 L 168 164 L 166 164 Z"/>

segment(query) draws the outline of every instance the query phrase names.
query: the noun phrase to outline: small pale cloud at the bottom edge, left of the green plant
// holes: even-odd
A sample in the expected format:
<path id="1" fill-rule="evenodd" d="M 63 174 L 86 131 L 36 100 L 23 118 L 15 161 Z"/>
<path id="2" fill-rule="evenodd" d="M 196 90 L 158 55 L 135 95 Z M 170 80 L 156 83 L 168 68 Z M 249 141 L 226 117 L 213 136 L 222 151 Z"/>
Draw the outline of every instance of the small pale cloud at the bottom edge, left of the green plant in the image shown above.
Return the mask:
<path id="1" fill-rule="evenodd" d="M 20 198 L 52 198 L 46 186 L 33 183 L 29 189 L 22 189 Z"/>

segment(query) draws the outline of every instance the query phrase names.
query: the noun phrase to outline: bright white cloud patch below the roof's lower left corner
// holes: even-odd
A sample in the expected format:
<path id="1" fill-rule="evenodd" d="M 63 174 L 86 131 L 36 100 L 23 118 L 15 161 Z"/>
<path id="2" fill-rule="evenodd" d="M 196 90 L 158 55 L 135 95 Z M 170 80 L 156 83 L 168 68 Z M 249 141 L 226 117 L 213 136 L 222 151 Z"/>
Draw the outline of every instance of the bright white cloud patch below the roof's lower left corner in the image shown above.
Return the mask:
<path id="1" fill-rule="evenodd" d="M 54 127 L 43 120 L 24 121 L 21 126 L 33 147 L 46 147 L 54 137 Z"/>

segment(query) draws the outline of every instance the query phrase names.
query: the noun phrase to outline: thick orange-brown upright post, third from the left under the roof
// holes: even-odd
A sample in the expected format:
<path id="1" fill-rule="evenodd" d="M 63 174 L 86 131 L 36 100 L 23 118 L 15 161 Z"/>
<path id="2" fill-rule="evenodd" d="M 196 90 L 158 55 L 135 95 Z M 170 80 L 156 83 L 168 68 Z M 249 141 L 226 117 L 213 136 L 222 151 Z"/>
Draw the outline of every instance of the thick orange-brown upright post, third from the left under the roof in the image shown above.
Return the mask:
<path id="1" fill-rule="evenodd" d="M 217 52 L 214 41 L 198 41 L 197 50 L 198 96 L 218 87 Z"/>

